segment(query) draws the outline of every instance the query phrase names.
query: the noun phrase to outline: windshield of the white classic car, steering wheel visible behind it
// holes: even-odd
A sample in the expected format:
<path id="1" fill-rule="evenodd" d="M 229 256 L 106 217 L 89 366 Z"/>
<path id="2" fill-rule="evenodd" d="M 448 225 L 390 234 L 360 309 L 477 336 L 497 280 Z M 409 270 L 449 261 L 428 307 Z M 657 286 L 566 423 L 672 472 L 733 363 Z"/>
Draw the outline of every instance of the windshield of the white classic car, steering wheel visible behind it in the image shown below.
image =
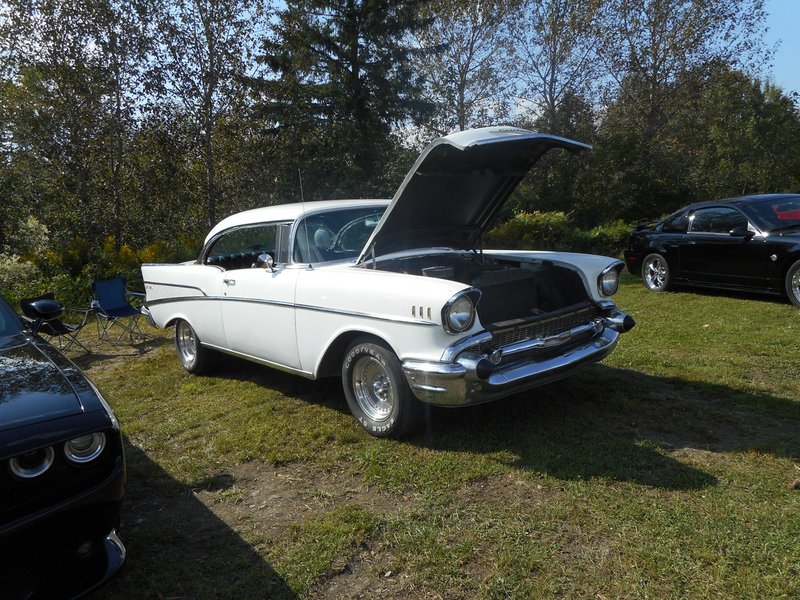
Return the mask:
<path id="1" fill-rule="evenodd" d="M 294 261 L 330 262 L 355 258 L 386 207 L 347 208 L 309 215 L 297 225 Z"/>

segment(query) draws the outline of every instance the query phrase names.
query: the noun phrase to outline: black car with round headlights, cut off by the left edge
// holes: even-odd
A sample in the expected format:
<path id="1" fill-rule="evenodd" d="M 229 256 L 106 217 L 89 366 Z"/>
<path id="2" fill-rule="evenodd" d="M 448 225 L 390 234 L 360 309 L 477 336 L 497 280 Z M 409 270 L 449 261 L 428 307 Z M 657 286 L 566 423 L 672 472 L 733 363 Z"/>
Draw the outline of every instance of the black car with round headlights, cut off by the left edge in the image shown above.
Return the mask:
<path id="1" fill-rule="evenodd" d="M 58 303 L 40 301 L 43 316 Z M 0 298 L 0 597 L 75 598 L 122 566 L 119 424 L 81 371 Z"/>

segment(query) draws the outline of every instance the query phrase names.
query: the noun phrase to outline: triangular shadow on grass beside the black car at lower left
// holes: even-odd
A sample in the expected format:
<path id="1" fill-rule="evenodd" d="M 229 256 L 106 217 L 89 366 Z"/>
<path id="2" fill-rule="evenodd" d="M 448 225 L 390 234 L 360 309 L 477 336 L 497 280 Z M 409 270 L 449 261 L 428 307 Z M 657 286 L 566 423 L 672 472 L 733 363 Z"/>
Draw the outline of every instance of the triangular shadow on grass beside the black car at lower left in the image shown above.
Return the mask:
<path id="1" fill-rule="evenodd" d="M 93 600 L 297 595 L 253 547 L 126 440 L 125 567 Z M 216 482 L 224 486 L 225 482 Z"/>

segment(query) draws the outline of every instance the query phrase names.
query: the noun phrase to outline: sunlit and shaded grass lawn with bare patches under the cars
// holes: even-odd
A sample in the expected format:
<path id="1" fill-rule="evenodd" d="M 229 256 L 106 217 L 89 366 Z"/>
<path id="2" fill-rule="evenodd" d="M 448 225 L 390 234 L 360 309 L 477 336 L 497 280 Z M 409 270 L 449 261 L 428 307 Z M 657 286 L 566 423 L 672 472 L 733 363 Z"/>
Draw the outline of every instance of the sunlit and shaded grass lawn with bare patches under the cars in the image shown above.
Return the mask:
<path id="1" fill-rule="evenodd" d="M 616 301 L 638 324 L 603 363 L 402 442 L 339 381 L 191 376 L 171 332 L 78 356 L 128 442 L 128 563 L 94 598 L 800 597 L 800 310 L 630 276 Z"/>

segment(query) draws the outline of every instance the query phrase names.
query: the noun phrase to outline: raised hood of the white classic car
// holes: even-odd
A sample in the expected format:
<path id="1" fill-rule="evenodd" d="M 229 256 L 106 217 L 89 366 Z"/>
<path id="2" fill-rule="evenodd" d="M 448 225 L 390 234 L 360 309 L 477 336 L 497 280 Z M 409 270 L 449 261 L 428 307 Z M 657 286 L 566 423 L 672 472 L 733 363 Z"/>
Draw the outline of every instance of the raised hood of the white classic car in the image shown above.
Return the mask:
<path id="1" fill-rule="evenodd" d="M 414 248 L 475 248 L 495 213 L 552 148 L 577 152 L 591 146 L 513 127 L 439 138 L 406 175 L 358 262 Z"/>

